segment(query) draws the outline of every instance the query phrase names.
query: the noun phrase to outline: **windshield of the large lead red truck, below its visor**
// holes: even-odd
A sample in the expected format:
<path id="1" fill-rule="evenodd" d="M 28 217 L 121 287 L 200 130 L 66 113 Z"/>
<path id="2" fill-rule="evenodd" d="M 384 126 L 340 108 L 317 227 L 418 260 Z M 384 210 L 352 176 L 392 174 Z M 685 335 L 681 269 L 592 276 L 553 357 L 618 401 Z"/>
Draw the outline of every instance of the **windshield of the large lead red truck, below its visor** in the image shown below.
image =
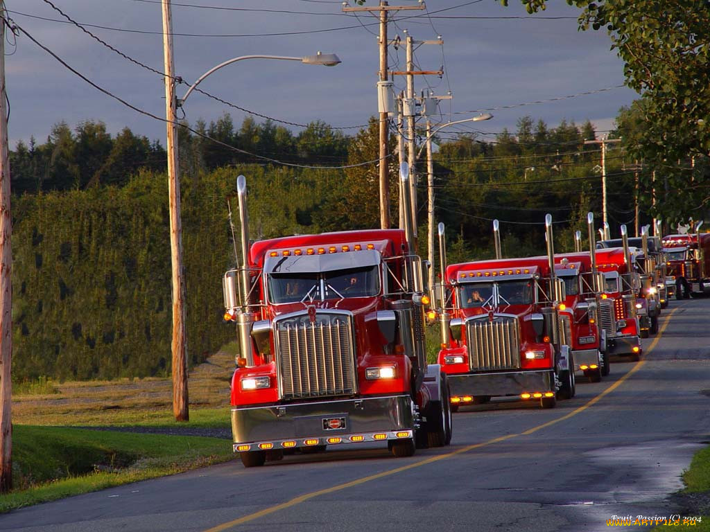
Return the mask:
<path id="1" fill-rule="evenodd" d="M 268 276 L 268 294 L 272 303 L 308 303 L 315 299 L 372 297 L 380 293 L 377 266 L 312 273 L 272 273 Z"/>

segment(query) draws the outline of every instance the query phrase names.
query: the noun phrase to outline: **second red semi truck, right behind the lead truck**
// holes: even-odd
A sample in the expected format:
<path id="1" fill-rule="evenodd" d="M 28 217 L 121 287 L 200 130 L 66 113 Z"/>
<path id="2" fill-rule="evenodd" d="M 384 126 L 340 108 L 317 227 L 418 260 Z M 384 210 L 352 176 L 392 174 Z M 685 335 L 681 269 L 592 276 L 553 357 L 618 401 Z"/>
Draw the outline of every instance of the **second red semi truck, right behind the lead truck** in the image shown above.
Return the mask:
<path id="1" fill-rule="evenodd" d="M 557 398 L 574 396 L 564 332 L 569 317 L 558 311 L 564 287 L 555 275 L 550 215 L 546 226 L 547 257 L 445 267 L 438 362 L 449 376 L 454 411 L 491 397 L 540 399 L 543 408 L 552 408 Z M 442 233 L 440 224 L 440 243 Z M 445 265 L 443 246 L 440 255 Z"/>

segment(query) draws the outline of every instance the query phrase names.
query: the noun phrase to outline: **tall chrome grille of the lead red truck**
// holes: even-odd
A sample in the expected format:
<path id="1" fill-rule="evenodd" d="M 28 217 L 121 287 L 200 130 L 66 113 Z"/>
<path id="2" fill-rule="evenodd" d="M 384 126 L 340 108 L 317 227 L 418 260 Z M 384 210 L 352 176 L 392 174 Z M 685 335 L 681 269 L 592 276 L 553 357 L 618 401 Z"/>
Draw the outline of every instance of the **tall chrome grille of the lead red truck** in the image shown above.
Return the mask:
<path id="1" fill-rule="evenodd" d="M 276 367 L 282 399 L 357 392 L 350 314 L 286 316 L 275 322 Z"/>

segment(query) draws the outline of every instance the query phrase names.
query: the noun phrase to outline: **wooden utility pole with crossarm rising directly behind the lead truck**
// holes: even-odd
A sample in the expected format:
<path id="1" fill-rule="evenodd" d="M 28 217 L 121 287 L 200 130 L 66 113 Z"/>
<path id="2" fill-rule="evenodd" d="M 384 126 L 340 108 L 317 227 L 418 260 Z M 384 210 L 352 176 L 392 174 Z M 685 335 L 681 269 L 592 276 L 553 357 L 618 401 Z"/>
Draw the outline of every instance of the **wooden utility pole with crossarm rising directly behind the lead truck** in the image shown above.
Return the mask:
<path id="1" fill-rule="evenodd" d="M 380 72 L 379 80 L 386 82 L 388 80 L 387 68 L 387 19 L 389 11 L 400 11 L 410 9 L 426 9 L 422 2 L 419 6 L 390 6 L 385 0 L 380 0 L 380 4 L 374 7 L 344 7 L 345 13 L 354 11 L 379 11 L 380 14 L 380 35 L 378 37 L 380 50 Z M 390 227 L 390 183 L 389 183 L 389 116 L 388 113 L 380 113 L 380 226 L 383 229 Z"/>

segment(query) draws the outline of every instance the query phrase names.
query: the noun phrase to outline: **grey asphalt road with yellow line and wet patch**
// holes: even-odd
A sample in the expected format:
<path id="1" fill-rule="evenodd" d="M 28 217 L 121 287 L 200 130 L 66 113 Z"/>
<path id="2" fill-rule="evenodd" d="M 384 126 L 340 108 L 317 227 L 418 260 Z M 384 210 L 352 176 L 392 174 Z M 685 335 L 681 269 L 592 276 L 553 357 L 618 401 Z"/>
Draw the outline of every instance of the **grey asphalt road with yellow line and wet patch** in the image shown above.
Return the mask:
<path id="1" fill-rule="evenodd" d="M 671 516 L 668 494 L 710 443 L 710 299 L 672 301 L 660 323 L 641 362 L 617 360 L 555 409 L 462 408 L 447 448 L 234 460 L 14 511 L 0 531 L 596 532 Z"/>

